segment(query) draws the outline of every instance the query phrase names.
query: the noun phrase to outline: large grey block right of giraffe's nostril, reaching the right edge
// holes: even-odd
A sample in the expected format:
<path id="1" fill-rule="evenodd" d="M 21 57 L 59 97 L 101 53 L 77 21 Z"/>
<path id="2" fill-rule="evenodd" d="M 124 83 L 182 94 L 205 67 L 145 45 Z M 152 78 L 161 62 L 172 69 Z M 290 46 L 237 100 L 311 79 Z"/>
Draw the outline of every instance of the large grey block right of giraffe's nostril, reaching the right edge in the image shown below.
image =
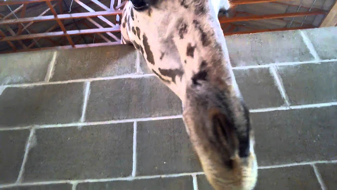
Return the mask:
<path id="1" fill-rule="evenodd" d="M 337 106 L 251 113 L 259 166 L 337 159 Z"/>

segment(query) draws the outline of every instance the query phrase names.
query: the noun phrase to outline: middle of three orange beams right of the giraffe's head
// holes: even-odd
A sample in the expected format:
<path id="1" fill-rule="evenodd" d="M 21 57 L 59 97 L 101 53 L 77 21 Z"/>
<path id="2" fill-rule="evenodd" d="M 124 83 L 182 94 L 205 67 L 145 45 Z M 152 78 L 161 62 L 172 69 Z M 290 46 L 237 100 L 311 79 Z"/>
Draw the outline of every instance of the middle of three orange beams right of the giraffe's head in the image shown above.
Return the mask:
<path id="1" fill-rule="evenodd" d="M 300 17 L 306 15 L 320 15 L 325 14 L 324 11 L 310 11 L 310 12 L 294 12 L 294 13 L 281 13 L 281 14 L 269 14 L 269 15 L 255 15 L 255 16 L 247 16 L 247 17 L 234 17 L 234 18 L 219 18 L 220 23 L 232 23 L 232 22 L 240 22 L 240 21 L 252 21 L 252 20 L 263 20 L 263 19 L 278 19 L 278 18 L 286 18 L 286 17 Z"/>

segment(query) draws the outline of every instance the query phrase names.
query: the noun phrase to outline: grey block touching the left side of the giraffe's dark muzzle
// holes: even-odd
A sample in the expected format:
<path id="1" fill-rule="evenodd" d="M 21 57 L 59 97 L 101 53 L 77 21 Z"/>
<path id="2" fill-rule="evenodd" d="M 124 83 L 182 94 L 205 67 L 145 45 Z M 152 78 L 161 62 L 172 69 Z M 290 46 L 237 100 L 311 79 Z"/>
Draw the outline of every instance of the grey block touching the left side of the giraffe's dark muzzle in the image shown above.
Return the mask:
<path id="1" fill-rule="evenodd" d="M 202 171 L 182 119 L 139 122 L 137 174 Z"/>

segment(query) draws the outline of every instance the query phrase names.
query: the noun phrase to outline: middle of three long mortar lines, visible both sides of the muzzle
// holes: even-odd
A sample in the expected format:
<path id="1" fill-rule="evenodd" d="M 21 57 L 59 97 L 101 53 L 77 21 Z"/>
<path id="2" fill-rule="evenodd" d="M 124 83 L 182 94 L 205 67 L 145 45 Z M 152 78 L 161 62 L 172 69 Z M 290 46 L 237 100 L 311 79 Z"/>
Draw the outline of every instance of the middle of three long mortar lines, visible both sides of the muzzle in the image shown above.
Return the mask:
<path id="1" fill-rule="evenodd" d="M 304 104 L 304 105 L 291 105 L 291 106 L 281 106 L 281 107 L 268 107 L 268 108 L 259 108 L 249 110 L 251 113 L 258 112 L 269 112 L 277 110 L 291 110 L 291 109 L 307 109 L 307 108 L 320 108 L 320 107 L 329 107 L 335 106 L 337 102 L 326 102 L 326 103 L 315 103 L 315 104 Z M 75 126 L 94 126 L 94 125 L 105 125 L 105 124 L 119 124 L 119 123 L 133 123 L 133 122 L 146 122 L 146 121 L 157 121 L 157 120 L 169 120 L 169 119 L 179 119 L 182 118 L 182 115 L 172 115 L 172 116 L 161 116 L 161 117 L 149 117 L 149 118 L 132 118 L 132 119 L 123 119 L 123 120 L 108 120 L 100 122 L 78 122 L 78 123 L 68 123 L 68 124 L 47 124 L 47 125 L 31 125 L 24 127 L 7 127 L 0 128 L 1 130 L 21 130 L 29 128 L 52 128 L 52 127 L 75 127 Z"/>

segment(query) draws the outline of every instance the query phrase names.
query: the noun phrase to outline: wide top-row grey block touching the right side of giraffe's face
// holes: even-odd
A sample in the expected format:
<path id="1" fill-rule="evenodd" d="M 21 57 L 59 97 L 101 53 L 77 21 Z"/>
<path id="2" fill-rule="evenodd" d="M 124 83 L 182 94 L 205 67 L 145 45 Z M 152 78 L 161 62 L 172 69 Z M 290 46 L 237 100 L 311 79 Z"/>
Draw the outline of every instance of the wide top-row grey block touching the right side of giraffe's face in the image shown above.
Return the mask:
<path id="1" fill-rule="evenodd" d="M 232 66 L 314 59 L 299 31 L 230 35 L 225 38 Z"/>

